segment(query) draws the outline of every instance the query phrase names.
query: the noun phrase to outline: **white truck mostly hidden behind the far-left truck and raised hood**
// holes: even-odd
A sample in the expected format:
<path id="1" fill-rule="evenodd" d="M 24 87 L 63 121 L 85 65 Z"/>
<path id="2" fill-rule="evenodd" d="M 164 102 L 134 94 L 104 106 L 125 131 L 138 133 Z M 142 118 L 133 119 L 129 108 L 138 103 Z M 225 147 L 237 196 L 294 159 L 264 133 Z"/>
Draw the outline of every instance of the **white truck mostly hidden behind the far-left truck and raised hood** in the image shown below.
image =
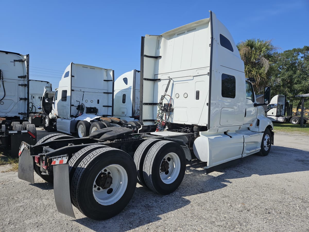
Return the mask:
<path id="1" fill-rule="evenodd" d="M 39 127 L 43 125 L 45 114 L 42 112 L 42 96 L 44 91 L 52 91 L 48 81 L 29 80 L 29 117 L 28 121 Z"/>

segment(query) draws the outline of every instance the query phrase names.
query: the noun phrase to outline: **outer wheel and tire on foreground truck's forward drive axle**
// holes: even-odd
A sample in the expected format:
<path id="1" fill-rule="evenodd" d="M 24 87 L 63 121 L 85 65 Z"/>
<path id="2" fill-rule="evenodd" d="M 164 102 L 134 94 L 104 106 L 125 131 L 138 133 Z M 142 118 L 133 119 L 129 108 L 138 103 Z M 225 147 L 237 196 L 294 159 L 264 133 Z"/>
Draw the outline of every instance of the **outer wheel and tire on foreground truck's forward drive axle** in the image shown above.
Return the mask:
<path id="1" fill-rule="evenodd" d="M 174 192 L 181 184 L 186 171 L 186 156 L 179 144 L 159 141 L 147 152 L 143 175 L 147 187 L 159 194 Z"/>

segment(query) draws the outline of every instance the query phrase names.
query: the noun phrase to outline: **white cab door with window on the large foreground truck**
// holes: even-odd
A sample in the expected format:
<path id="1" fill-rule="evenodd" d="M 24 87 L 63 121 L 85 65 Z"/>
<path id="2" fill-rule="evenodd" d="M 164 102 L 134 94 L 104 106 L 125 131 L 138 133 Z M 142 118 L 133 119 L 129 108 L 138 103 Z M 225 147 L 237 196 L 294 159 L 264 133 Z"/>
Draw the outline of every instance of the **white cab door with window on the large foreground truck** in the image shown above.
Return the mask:
<path id="1" fill-rule="evenodd" d="M 254 106 L 255 94 L 251 82 L 246 81 L 246 110 L 243 124 L 251 124 L 257 116 L 257 108 Z"/>

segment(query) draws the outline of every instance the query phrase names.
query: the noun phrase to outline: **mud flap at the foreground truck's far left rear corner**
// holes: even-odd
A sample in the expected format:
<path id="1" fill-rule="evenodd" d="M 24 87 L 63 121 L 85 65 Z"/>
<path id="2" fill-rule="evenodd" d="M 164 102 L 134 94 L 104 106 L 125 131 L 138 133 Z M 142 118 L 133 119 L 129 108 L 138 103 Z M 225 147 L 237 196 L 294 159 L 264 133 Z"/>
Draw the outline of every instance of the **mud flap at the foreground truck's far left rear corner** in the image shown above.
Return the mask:
<path id="1" fill-rule="evenodd" d="M 33 157 L 30 156 L 30 145 L 25 142 L 19 148 L 18 178 L 34 184 Z"/>

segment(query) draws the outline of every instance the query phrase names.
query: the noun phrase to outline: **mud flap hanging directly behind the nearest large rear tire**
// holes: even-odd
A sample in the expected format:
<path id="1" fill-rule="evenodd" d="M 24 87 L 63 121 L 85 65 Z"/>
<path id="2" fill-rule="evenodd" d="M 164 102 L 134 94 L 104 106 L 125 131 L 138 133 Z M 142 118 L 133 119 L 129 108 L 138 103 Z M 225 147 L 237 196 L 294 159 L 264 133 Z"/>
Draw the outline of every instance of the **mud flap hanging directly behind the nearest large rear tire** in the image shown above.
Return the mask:
<path id="1" fill-rule="evenodd" d="M 53 165 L 53 173 L 57 210 L 59 213 L 75 218 L 70 197 L 69 164 Z"/>

